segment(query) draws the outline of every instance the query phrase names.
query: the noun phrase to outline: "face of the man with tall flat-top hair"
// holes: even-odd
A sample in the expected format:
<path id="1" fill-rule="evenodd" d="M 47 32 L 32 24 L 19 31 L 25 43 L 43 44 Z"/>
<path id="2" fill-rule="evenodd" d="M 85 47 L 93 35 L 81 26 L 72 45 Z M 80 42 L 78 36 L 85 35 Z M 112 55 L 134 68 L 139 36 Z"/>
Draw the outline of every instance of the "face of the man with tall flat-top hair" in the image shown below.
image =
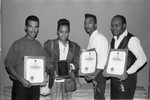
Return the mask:
<path id="1" fill-rule="evenodd" d="M 84 21 L 84 29 L 85 31 L 91 35 L 97 28 L 97 25 L 95 24 L 95 21 L 92 17 L 85 18 Z"/>

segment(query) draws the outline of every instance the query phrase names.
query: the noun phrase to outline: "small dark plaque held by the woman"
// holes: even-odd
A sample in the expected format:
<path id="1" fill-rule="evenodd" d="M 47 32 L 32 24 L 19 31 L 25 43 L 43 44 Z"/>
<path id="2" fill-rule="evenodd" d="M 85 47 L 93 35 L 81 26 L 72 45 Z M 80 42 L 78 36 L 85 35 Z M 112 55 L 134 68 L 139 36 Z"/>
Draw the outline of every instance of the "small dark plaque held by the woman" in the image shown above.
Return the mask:
<path id="1" fill-rule="evenodd" d="M 70 77 L 70 64 L 67 60 L 60 60 L 56 65 L 56 73 L 58 78 L 69 78 Z"/>

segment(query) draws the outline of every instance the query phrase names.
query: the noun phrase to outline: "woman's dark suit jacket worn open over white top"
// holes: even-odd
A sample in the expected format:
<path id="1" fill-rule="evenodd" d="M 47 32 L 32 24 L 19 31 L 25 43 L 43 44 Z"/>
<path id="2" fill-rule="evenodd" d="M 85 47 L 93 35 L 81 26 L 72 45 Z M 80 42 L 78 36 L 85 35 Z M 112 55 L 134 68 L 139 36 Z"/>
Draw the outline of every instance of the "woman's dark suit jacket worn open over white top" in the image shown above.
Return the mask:
<path id="1" fill-rule="evenodd" d="M 44 43 L 44 52 L 46 57 L 46 71 L 48 74 L 51 74 L 56 70 L 55 66 L 60 56 L 58 38 L 46 41 Z M 69 50 L 66 60 L 75 66 L 75 70 L 73 70 L 75 74 L 79 70 L 79 52 L 79 45 L 69 40 Z"/>

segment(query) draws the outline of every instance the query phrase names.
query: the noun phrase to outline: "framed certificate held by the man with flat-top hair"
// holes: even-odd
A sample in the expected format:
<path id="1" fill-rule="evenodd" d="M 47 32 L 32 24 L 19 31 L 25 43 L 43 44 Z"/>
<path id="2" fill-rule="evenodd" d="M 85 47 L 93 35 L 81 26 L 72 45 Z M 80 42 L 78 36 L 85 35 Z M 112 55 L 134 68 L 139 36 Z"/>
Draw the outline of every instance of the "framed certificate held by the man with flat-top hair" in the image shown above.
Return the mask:
<path id="1" fill-rule="evenodd" d="M 82 49 L 80 54 L 80 76 L 94 73 L 96 65 L 97 54 L 95 49 Z"/>

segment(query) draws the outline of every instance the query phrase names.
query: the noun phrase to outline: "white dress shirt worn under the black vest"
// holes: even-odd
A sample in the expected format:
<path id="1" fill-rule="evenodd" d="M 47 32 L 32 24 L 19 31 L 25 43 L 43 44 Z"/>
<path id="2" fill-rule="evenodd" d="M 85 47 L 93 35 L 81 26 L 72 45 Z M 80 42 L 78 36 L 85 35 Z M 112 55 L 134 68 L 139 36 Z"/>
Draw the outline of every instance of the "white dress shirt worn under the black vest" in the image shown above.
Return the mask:
<path id="1" fill-rule="evenodd" d="M 117 39 L 116 36 L 114 36 L 115 49 L 118 49 L 118 46 L 120 45 L 121 41 L 125 36 L 127 36 L 128 32 L 125 30 L 125 32 L 120 35 L 120 37 Z M 146 55 L 143 51 L 143 48 L 140 44 L 140 40 L 137 37 L 131 37 L 128 43 L 128 49 L 135 55 L 137 60 L 134 62 L 134 64 L 127 70 L 128 74 L 135 73 L 142 65 L 147 61 Z"/>

